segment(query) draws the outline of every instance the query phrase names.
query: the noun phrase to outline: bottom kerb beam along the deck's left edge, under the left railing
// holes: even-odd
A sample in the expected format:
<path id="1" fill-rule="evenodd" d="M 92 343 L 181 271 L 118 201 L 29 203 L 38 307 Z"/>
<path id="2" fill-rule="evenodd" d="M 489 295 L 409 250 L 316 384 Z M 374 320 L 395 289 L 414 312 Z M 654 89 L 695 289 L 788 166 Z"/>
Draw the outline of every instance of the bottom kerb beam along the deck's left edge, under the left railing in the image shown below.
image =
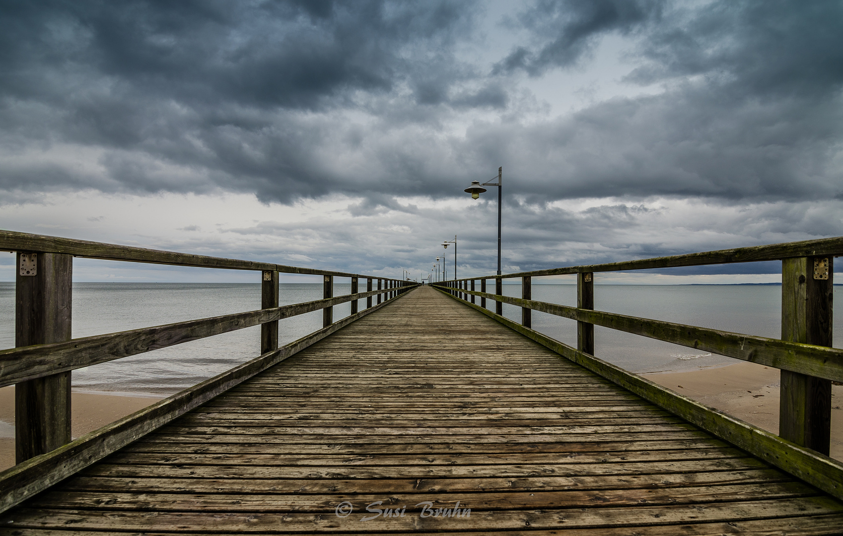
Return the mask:
<path id="1" fill-rule="evenodd" d="M 385 305 L 385 303 L 384 303 Z M 328 328 L 316 331 L 295 340 L 277 351 L 261 355 L 237 367 L 207 379 L 202 383 L 181 391 L 168 399 L 160 400 L 147 408 L 128 415 L 99 430 L 79 437 L 77 440 L 56 448 L 50 453 L 30 458 L 23 464 L 0 473 L 0 512 L 8 510 L 30 496 L 78 470 L 94 464 L 99 459 L 115 452 L 138 437 L 148 434 L 159 426 L 184 415 L 209 399 L 221 394 L 244 380 L 255 376 L 268 367 L 272 367 L 298 351 L 307 348 L 327 335 L 334 333 L 347 324 L 379 310 L 378 307 L 361 311 L 356 315 L 331 324 Z"/>

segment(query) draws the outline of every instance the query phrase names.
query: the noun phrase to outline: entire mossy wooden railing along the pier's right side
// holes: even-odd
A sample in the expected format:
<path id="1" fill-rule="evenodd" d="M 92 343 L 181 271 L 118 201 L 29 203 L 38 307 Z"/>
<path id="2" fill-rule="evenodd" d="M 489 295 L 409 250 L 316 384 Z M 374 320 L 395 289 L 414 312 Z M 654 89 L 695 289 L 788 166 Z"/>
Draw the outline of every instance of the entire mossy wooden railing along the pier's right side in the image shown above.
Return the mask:
<path id="1" fill-rule="evenodd" d="M 443 281 L 434 286 L 665 409 L 735 442 L 739 447 L 768 459 L 835 496 L 843 497 L 843 465 L 827 456 L 830 449 L 831 383 L 843 382 L 843 350 L 830 347 L 833 266 L 834 257 L 838 255 L 843 255 L 843 237 L 472 277 Z M 594 310 L 595 272 L 765 260 L 781 260 L 781 340 Z M 577 275 L 577 307 L 532 299 L 533 277 L 562 274 Z M 507 297 L 502 292 L 502 281 L 514 278 L 521 280 L 520 298 Z M 495 281 L 494 293 L 486 292 L 486 281 L 489 280 Z M 480 281 L 479 291 L 477 281 Z M 479 306 L 476 303 L 478 297 Z M 495 302 L 494 313 L 486 309 L 486 300 Z M 521 308 L 519 324 L 502 316 L 503 303 Z M 576 320 L 577 348 L 532 330 L 533 310 Z M 593 355 L 594 325 L 781 369 L 780 437 L 699 405 L 596 358 Z M 764 441 L 760 441 L 759 437 L 764 437 Z"/>

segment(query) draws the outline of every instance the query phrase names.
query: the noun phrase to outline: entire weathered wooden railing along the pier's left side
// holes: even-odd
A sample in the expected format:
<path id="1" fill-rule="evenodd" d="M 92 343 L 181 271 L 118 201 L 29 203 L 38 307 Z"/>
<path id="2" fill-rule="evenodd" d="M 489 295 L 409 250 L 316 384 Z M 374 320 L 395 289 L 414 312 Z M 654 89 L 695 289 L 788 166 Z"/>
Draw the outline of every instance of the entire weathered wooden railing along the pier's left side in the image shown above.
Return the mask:
<path id="1" fill-rule="evenodd" d="M 221 259 L 12 231 L 0 231 L 0 251 L 17 252 L 15 348 L 0 351 L 0 387 L 15 385 L 15 458 L 18 463 L 0 474 L 0 489 L 3 490 L 0 511 L 183 415 L 417 285 L 411 281 L 341 271 Z M 260 273 L 261 308 L 71 339 L 73 257 L 257 271 Z M 279 273 L 322 276 L 323 299 L 279 307 Z M 350 294 L 333 296 L 335 277 L 351 278 Z M 365 292 L 358 292 L 360 279 L 366 280 Z M 375 281 L 377 288 L 373 289 Z M 360 311 L 357 301 L 363 298 L 366 299 L 366 308 Z M 373 298 L 376 300 L 374 303 Z M 334 306 L 346 302 L 351 302 L 351 315 L 334 322 Z M 321 330 L 278 346 L 280 319 L 319 309 L 323 311 Z M 260 356 L 71 442 L 70 375 L 73 369 L 259 324 Z"/>

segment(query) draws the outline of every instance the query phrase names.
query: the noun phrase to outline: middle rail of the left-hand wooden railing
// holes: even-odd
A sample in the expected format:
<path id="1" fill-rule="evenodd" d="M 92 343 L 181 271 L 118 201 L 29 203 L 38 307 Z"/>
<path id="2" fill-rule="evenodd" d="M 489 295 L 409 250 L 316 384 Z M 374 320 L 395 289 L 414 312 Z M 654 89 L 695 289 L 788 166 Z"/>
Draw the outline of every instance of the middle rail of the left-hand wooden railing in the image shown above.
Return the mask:
<path id="1" fill-rule="evenodd" d="M 365 294 L 357 294 L 364 297 Z M 212 335 L 242 330 L 258 324 L 311 313 L 329 305 L 355 299 L 354 295 L 295 303 L 278 308 L 225 314 L 207 319 L 188 320 L 140 330 L 94 335 L 66 342 L 54 342 L 0 350 L 0 387 L 40 378 L 56 372 L 89 367 L 126 356 L 158 350 Z"/>

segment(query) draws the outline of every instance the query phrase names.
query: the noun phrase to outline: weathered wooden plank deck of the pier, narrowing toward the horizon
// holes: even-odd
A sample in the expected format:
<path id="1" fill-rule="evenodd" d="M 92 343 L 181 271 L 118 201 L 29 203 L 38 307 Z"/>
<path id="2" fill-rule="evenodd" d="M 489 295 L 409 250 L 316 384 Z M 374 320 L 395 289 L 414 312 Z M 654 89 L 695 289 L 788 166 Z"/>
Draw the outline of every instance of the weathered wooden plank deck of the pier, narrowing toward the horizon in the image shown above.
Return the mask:
<path id="1" fill-rule="evenodd" d="M 843 505 L 420 287 L 0 516 L 103 531 L 833 534 Z"/>

